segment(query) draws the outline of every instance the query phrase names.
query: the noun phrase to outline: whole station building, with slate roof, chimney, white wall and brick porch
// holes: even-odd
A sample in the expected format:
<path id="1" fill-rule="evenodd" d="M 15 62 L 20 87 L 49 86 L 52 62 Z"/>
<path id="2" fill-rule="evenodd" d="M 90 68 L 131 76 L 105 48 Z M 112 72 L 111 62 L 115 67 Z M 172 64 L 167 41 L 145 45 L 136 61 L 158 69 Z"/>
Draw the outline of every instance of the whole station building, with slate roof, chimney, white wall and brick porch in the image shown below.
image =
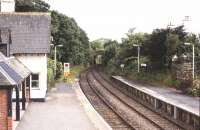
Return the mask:
<path id="1" fill-rule="evenodd" d="M 12 130 L 26 102 L 45 101 L 50 24 L 49 13 L 16 13 L 15 0 L 0 0 L 0 130 Z"/>

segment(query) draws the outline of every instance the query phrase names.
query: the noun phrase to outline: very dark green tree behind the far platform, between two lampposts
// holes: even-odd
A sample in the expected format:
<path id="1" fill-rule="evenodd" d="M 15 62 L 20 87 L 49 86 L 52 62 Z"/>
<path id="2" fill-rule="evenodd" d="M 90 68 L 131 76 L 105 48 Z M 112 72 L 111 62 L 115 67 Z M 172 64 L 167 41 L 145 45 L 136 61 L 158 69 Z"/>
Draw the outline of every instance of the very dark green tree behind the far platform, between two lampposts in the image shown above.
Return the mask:
<path id="1" fill-rule="evenodd" d="M 155 29 L 144 44 L 145 54 L 149 57 L 154 69 L 171 68 L 172 57 L 180 52 L 178 47 L 183 44 L 183 26 L 174 29 Z"/>

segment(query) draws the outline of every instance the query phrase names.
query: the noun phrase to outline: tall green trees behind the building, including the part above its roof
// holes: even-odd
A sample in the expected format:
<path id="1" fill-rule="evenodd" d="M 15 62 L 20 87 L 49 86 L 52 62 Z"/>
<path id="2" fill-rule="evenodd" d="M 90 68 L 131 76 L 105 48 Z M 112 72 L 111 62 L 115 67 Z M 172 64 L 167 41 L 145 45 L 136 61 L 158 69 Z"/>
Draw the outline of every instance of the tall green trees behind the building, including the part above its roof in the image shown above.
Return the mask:
<path id="1" fill-rule="evenodd" d="M 49 12 L 50 5 L 43 0 L 17 0 L 17 12 Z M 51 11 L 51 35 L 58 48 L 58 61 L 87 64 L 90 58 L 89 39 L 73 18 Z M 53 48 L 50 57 L 53 58 Z"/>

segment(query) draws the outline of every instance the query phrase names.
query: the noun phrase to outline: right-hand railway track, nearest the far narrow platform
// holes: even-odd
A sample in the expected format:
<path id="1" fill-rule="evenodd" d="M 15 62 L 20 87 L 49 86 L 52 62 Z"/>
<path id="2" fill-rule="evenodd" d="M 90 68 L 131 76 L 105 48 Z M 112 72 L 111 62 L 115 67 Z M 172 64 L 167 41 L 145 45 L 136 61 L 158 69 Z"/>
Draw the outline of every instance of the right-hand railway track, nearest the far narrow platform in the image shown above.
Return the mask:
<path id="1" fill-rule="evenodd" d="M 85 74 L 88 86 L 103 99 L 112 111 L 115 111 L 132 129 L 148 130 L 180 130 L 181 128 L 164 119 L 155 112 L 147 109 L 126 96 L 101 74 L 92 70 Z M 86 93 L 85 93 L 86 94 Z M 87 94 L 86 94 L 87 96 Z M 95 108 L 96 109 L 96 108 Z M 124 128 L 121 128 L 124 129 Z"/>

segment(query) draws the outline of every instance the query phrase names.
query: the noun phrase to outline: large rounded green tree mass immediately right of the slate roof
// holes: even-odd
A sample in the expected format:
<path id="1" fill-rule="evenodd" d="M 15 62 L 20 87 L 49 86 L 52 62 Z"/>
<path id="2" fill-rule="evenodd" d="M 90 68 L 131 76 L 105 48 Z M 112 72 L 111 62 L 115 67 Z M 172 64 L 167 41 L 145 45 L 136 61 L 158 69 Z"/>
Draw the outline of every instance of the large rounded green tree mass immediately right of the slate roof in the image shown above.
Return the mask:
<path id="1" fill-rule="evenodd" d="M 73 18 L 56 11 L 51 12 L 51 17 L 53 44 L 63 45 L 62 48 L 58 48 L 58 60 L 74 65 L 87 64 L 90 57 L 87 34 Z M 51 57 L 53 57 L 53 52 Z"/>

